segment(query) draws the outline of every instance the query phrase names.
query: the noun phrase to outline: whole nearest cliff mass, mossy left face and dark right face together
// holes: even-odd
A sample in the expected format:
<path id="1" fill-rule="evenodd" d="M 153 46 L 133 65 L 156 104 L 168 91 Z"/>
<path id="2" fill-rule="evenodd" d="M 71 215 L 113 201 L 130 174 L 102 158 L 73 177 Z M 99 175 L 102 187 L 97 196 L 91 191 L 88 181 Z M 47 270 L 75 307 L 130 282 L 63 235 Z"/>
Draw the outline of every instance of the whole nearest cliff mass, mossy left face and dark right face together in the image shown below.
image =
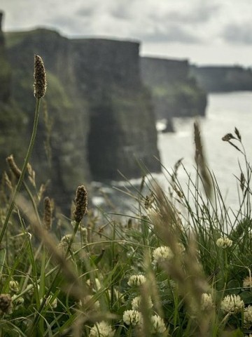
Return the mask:
<path id="1" fill-rule="evenodd" d="M 56 201 L 69 202 L 76 185 L 140 177 L 137 160 L 160 171 L 155 119 L 139 76 L 139 44 L 104 39 L 69 40 L 36 29 L 6 34 L 11 96 L 25 118 L 22 147 L 34 117 L 34 53 L 48 74 L 32 164 L 50 178 Z M 20 160 L 24 153 L 20 154 Z M 92 177 L 92 178 L 91 178 Z"/>

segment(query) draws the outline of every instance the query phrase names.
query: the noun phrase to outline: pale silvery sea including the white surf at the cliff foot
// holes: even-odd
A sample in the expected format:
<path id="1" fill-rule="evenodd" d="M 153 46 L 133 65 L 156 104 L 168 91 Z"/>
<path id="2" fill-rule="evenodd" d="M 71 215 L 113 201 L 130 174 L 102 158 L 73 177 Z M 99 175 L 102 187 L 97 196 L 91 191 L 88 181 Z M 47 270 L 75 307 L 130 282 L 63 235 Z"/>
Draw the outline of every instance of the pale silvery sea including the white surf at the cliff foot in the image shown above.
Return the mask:
<path id="1" fill-rule="evenodd" d="M 200 117 L 197 120 L 200 124 L 204 154 L 209 170 L 216 177 L 226 206 L 238 209 L 237 191 L 240 187 L 236 176 L 239 177 L 241 173 L 239 165 L 242 169 L 245 167 L 244 156 L 228 142 L 224 142 L 222 138 L 226 133 L 232 133 L 235 136 L 236 127 L 241 133 L 247 159 L 252 161 L 252 92 L 209 94 L 206 117 Z M 183 166 L 186 169 L 185 171 L 180 167 L 178 171 L 179 182 L 185 190 L 188 174 L 192 177 L 195 175 L 194 122 L 195 118 L 176 118 L 174 119 L 175 133 L 158 133 L 160 159 L 165 169 L 163 173 L 155 174 L 154 177 L 164 190 L 168 190 L 168 175 L 165 171 L 172 172 L 174 164 L 179 159 L 183 158 Z M 237 141 L 233 143 L 240 147 Z M 139 179 L 130 180 L 132 186 L 125 181 L 111 182 L 111 185 L 94 183 L 94 189 L 97 192 L 102 190 L 102 194 L 96 193 L 93 203 L 102 209 L 107 209 L 106 200 L 109 200 L 109 203 L 114 204 L 114 209 L 119 213 L 127 213 L 129 209 L 132 209 L 132 205 L 134 208 L 134 201 L 127 196 L 127 193 L 136 195 L 134 188 L 137 189 L 140 182 Z M 124 192 L 118 192 L 118 189 Z"/>

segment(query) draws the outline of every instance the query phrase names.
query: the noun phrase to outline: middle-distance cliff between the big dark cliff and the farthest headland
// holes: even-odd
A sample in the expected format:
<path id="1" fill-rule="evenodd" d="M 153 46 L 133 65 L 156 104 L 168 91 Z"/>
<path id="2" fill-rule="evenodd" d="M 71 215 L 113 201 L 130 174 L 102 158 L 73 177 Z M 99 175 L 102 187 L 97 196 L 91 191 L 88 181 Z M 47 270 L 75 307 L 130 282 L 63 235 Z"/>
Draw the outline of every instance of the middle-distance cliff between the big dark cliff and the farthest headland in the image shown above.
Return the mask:
<path id="1" fill-rule="evenodd" d="M 141 58 L 141 77 L 151 90 L 156 118 L 204 116 L 207 96 L 187 60 Z"/>

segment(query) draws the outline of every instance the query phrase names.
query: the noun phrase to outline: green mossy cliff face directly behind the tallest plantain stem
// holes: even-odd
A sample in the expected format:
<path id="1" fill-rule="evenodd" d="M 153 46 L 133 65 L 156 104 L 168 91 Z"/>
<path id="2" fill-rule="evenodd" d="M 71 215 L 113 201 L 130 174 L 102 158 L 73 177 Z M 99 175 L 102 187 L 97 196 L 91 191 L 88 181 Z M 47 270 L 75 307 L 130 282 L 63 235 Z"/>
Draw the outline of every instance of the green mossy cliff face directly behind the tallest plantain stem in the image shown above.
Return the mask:
<path id="1" fill-rule="evenodd" d="M 12 65 L 12 97 L 25 113 L 25 132 L 19 135 L 23 152 L 34 119 L 34 53 L 43 58 L 48 91 L 41 105 L 31 164 L 43 183 L 50 180 L 48 189 L 57 205 L 69 207 L 76 187 L 90 181 L 86 151 L 89 117 L 85 97 L 80 99 L 73 76 L 69 40 L 37 29 L 7 34 L 6 41 Z M 23 152 L 18 153 L 20 161 Z"/>

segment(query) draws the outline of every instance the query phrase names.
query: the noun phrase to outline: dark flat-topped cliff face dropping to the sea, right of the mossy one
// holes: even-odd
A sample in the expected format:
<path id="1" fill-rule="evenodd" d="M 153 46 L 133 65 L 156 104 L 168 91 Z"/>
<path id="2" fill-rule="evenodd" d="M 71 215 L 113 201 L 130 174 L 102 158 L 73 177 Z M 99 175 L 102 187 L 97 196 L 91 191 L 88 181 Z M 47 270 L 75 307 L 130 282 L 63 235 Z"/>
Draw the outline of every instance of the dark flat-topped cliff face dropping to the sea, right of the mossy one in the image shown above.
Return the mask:
<path id="1" fill-rule="evenodd" d="M 88 161 L 94 180 L 141 176 L 137 161 L 160 171 L 155 118 L 139 74 L 139 44 L 73 41 L 80 90 L 89 98 Z"/>

